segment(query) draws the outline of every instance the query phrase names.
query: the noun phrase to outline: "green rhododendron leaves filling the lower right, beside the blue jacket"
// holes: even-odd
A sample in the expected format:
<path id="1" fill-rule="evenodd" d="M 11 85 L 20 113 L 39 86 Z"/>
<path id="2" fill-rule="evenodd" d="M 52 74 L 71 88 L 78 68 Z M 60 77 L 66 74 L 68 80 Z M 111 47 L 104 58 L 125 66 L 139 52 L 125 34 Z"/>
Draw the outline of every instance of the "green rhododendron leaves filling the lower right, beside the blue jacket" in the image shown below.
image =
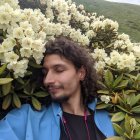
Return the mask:
<path id="1" fill-rule="evenodd" d="M 100 102 L 97 109 L 109 109 L 112 106 L 111 120 L 115 131 L 121 137 L 110 139 L 138 140 L 140 139 L 140 82 L 139 73 L 124 73 L 116 75 L 113 70 L 107 70 L 103 81 L 99 84 L 103 87 L 98 91 L 99 96 L 108 95 L 108 104 Z"/>

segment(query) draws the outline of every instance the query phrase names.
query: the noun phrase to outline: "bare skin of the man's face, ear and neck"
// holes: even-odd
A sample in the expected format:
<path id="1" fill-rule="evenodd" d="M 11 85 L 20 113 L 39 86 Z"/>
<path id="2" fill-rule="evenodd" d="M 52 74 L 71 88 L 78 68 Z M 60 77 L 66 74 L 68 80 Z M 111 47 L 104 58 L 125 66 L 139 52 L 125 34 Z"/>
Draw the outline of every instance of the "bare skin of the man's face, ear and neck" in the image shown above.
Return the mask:
<path id="1" fill-rule="evenodd" d="M 76 69 L 69 60 L 56 54 L 44 59 L 44 86 L 55 101 L 61 100 L 63 111 L 84 115 L 80 81 L 85 78 L 85 69 Z"/>

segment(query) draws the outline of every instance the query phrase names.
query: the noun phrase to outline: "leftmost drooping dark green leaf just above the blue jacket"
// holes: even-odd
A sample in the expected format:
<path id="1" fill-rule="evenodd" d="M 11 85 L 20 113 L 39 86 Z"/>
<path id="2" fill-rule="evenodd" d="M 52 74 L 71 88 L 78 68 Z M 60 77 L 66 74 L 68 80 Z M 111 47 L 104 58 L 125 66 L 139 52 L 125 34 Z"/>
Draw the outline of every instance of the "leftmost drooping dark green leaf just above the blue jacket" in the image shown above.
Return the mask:
<path id="1" fill-rule="evenodd" d="M 4 100 L 2 102 L 2 109 L 6 110 L 10 104 L 11 104 L 11 101 L 12 101 L 12 96 L 11 94 L 7 95 L 4 97 Z"/>

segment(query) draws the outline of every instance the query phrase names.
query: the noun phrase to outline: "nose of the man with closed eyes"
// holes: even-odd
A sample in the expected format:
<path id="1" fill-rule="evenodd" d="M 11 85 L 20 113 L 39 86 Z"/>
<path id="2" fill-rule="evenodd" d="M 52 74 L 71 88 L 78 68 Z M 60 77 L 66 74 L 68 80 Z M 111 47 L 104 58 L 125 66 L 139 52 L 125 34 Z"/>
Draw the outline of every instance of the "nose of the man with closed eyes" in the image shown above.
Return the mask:
<path id="1" fill-rule="evenodd" d="M 45 86 L 48 86 L 50 84 L 53 84 L 55 82 L 54 79 L 54 75 L 52 72 L 48 72 L 45 76 L 44 76 L 44 80 L 43 83 Z"/>

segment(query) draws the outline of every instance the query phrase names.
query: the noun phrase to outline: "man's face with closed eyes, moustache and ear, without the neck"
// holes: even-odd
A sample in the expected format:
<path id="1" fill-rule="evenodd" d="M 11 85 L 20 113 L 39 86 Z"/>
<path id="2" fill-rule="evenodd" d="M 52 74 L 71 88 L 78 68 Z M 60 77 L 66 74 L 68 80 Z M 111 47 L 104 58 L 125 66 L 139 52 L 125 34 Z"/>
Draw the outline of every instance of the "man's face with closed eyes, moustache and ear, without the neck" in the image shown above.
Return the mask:
<path id="1" fill-rule="evenodd" d="M 75 94 L 80 94 L 82 70 L 64 57 L 56 54 L 47 55 L 43 64 L 44 86 L 55 101 L 65 101 Z"/>

